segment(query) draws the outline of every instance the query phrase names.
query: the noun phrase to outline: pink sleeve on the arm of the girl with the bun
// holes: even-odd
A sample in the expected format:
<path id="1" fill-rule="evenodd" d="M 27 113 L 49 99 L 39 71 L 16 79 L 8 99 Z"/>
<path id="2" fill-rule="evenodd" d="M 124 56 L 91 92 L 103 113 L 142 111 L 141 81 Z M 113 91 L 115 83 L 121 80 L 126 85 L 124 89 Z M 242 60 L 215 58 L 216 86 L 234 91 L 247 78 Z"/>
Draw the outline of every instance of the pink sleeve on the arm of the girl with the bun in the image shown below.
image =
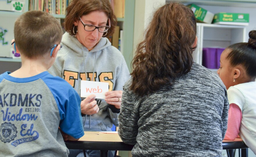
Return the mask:
<path id="1" fill-rule="evenodd" d="M 230 108 L 228 110 L 227 132 L 224 140 L 234 140 L 237 138 L 241 120 L 241 109 L 234 103 L 230 104 Z"/>

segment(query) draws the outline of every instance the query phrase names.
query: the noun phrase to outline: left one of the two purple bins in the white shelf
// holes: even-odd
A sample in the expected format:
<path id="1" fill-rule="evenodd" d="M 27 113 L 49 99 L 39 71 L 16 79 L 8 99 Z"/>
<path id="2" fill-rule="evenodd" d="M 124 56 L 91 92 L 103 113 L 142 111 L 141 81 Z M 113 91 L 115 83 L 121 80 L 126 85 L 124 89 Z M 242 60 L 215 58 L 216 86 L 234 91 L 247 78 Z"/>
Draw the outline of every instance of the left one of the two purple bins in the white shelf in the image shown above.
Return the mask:
<path id="1" fill-rule="evenodd" d="M 203 48 L 202 65 L 209 69 L 217 68 L 216 48 Z"/>

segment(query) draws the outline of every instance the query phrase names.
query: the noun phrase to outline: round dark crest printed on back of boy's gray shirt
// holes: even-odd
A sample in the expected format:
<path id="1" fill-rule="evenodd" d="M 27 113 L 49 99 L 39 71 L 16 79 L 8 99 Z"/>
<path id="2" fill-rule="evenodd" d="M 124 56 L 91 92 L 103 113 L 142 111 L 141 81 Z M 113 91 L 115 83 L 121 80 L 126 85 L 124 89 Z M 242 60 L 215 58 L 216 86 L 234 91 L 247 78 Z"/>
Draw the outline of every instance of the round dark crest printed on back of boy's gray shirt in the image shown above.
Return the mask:
<path id="1" fill-rule="evenodd" d="M 0 140 L 4 143 L 14 140 L 17 136 L 17 127 L 12 123 L 2 123 L 0 127 Z"/>

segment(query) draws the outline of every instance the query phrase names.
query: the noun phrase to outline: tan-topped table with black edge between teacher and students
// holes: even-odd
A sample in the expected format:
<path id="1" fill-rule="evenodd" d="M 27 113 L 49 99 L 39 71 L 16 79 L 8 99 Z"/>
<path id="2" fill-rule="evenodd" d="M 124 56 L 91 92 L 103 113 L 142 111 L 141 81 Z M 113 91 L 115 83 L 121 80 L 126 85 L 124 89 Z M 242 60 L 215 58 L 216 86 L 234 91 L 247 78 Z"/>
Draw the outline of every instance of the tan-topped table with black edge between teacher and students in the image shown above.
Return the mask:
<path id="1" fill-rule="evenodd" d="M 131 151 L 134 146 L 123 143 L 118 134 L 103 132 L 84 132 L 84 134 L 78 141 L 65 141 L 67 148 L 100 150 L 100 156 L 107 157 L 109 150 Z M 236 138 L 234 141 L 223 140 L 222 147 L 223 149 L 248 148 L 241 138 Z M 241 156 L 247 157 L 248 150 L 242 149 Z"/>

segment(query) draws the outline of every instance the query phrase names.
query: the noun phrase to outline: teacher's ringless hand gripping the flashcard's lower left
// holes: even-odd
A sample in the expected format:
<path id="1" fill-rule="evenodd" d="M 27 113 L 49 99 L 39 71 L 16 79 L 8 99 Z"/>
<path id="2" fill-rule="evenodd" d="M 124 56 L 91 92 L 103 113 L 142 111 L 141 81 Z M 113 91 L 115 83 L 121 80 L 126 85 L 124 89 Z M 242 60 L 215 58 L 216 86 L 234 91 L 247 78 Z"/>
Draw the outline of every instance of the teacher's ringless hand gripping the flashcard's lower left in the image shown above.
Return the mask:
<path id="1" fill-rule="evenodd" d="M 81 113 L 82 114 L 96 114 L 99 112 L 99 107 L 97 105 L 97 101 L 95 101 L 95 95 L 89 95 L 83 101 L 81 101 Z"/>

